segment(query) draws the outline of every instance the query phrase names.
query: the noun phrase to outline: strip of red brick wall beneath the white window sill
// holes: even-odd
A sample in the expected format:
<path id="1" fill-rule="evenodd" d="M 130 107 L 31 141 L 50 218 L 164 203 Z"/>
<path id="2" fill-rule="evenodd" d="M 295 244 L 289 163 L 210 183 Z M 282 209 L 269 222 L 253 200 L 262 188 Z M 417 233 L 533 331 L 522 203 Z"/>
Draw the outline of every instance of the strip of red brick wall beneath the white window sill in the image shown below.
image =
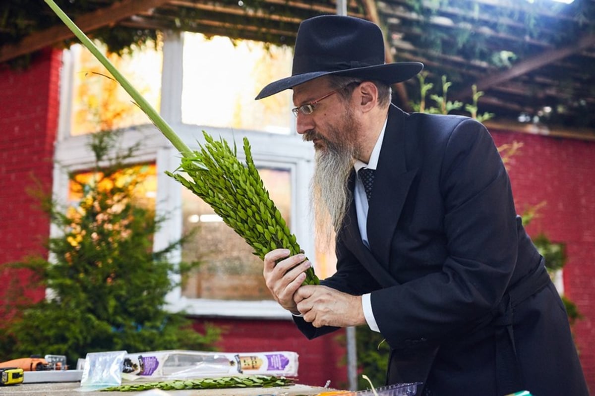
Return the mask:
<path id="1" fill-rule="evenodd" d="M 206 319 L 223 328 L 225 333 L 218 342 L 221 351 L 264 352 L 294 351 L 299 355 L 297 382 L 312 386 L 347 386 L 345 350 L 336 340 L 344 331 L 336 331 L 308 341 L 297 330 L 292 320 L 232 320 Z M 197 326 L 200 328 L 200 326 Z M 343 361 L 344 362 L 344 361 Z"/>

